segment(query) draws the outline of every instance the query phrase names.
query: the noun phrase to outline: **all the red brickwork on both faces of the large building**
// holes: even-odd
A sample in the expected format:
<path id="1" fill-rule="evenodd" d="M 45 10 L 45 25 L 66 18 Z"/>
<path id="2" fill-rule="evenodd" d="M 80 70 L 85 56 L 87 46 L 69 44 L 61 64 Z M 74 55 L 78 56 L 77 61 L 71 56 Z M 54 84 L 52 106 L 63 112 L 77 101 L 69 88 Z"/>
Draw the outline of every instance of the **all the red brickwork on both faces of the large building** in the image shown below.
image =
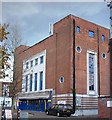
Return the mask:
<path id="1" fill-rule="evenodd" d="M 56 89 L 57 93 L 69 93 L 72 88 L 72 49 L 73 49 L 73 19 L 75 26 L 80 26 L 81 33 L 75 33 L 75 46 L 82 48 L 81 53 L 75 52 L 75 75 L 76 92 L 87 93 L 87 50 L 98 52 L 98 33 L 99 29 L 99 59 L 100 59 L 100 91 L 101 94 L 109 94 L 109 56 L 108 56 L 108 36 L 109 30 L 100 27 L 91 22 L 85 21 L 75 16 L 67 16 L 54 24 L 54 34 L 45 40 L 29 47 L 27 50 L 18 54 L 16 64 L 19 65 L 19 71 L 22 70 L 22 61 L 46 49 L 46 89 Z M 95 32 L 95 38 L 88 36 L 88 30 Z M 105 35 L 105 41 L 102 42 L 101 35 Z M 19 48 L 18 48 L 19 49 Z M 101 54 L 105 52 L 107 58 L 104 60 Z M 22 73 L 21 73 L 22 74 Z M 64 83 L 59 83 L 60 76 L 64 76 Z M 22 80 L 20 75 L 19 81 Z M 21 83 L 21 82 L 20 82 Z M 21 84 L 18 84 L 21 86 Z"/>

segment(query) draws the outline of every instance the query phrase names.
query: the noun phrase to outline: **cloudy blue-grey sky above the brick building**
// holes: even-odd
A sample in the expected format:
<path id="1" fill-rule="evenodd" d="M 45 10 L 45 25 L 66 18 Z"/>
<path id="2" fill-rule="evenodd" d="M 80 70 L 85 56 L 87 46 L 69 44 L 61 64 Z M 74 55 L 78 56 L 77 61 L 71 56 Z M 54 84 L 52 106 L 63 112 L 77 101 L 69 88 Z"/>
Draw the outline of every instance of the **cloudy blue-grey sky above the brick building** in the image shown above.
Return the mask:
<path id="1" fill-rule="evenodd" d="M 49 24 L 73 14 L 109 28 L 110 12 L 105 2 L 3 2 L 1 22 L 18 24 L 22 39 L 33 45 L 49 36 Z"/>

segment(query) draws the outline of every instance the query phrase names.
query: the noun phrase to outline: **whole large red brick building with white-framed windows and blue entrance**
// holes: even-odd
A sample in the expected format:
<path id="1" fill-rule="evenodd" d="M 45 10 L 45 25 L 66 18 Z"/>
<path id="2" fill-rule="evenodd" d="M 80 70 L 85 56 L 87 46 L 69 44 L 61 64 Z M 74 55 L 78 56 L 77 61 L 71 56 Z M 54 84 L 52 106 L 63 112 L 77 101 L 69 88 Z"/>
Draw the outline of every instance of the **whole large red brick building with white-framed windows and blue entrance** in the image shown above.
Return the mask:
<path id="1" fill-rule="evenodd" d="M 109 29 L 68 15 L 54 24 L 48 38 L 18 47 L 15 76 L 20 108 L 73 104 L 74 86 L 80 113 L 98 114 L 98 97 L 110 94 L 108 40 Z"/>

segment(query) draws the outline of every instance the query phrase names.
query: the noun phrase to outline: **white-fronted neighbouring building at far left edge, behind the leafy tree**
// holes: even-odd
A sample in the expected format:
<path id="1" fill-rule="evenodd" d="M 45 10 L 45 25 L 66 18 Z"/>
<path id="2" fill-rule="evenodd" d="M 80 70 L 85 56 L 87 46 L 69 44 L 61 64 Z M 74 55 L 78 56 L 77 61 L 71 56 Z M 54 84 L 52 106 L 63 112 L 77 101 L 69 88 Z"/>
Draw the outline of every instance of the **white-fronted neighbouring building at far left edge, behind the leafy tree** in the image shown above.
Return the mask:
<path id="1" fill-rule="evenodd" d="M 0 42 L 0 44 L 3 44 L 3 42 Z M 11 71 L 6 69 L 6 66 L 3 66 L 3 50 L 2 45 L 0 45 L 0 108 L 3 105 L 3 102 L 5 103 L 6 107 L 12 106 L 12 98 L 10 96 L 9 87 L 11 82 Z M 1 112 L 1 111 L 0 111 Z"/>

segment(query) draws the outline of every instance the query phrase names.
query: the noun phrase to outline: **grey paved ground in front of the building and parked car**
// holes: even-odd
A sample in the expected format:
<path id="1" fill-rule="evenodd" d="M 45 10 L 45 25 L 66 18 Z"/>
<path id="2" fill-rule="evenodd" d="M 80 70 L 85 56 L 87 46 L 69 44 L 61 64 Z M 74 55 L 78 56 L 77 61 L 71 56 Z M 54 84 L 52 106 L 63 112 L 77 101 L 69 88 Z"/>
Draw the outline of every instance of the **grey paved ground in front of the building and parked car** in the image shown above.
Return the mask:
<path id="1" fill-rule="evenodd" d="M 17 118 L 17 113 L 13 114 L 13 118 Z M 37 112 L 37 111 L 21 111 L 20 114 L 19 114 L 19 117 L 21 118 L 21 120 L 23 119 L 51 119 L 51 120 L 55 120 L 55 119 L 63 119 L 63 120 L 66 120 L 66 119 L 70 119 L 70 120 L 101 120 L 98 118 L 98 116 L 74 116 L 74 115 L 71 115 L 70 117 L 57 117 L 57 116 L 53 116 L 53 115 L 46 115 L 45 112 Z M 107 119 L 104 119 L 104 120 L 107 120 Z"/>

